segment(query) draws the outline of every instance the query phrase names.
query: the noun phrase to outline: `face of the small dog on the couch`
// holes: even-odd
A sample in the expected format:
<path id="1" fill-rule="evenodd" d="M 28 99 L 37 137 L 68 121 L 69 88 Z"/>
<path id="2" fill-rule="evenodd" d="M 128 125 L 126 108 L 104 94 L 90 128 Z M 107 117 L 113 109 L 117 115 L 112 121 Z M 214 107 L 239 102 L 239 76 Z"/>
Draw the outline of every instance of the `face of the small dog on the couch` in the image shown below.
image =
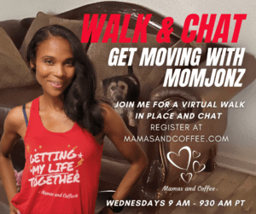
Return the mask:
<path id="1" fill-rule="evenodd" d="M 108 84 L 107 96 L 111 99 L 112 102 L 125 101 L 127 92 L 128 84 L 122 80 Z"/>

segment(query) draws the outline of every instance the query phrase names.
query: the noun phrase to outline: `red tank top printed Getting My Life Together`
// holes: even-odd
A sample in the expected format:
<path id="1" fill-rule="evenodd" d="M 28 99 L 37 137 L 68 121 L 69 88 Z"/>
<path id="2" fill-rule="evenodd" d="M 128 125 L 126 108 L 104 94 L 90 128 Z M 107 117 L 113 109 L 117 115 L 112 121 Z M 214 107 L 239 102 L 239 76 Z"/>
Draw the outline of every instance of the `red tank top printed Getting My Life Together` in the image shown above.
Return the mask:
<path id="1" fill-rule="evenodd" d="M 26 165 L 20 193 L 12 199 L 21 214 L 93 214 L 102 146 L 87 130 L 46 130 L 39 97 L 32 101 L 24 137 Z"/>

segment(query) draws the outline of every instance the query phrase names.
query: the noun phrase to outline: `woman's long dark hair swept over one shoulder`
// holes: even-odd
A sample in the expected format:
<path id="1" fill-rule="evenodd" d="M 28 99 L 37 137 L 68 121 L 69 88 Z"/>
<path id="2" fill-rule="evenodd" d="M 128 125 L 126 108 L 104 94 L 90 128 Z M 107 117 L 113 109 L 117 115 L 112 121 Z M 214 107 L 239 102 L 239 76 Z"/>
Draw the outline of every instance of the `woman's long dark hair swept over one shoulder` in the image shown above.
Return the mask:
<path id="1" fill-rule="evenodd" d="M 70 119 L 96 136 L 103 130 L 103 110 L 96 100 L 96 71 L 79 38 L 64 26 L 44 26 L 29 43 L 26 60 L 32 62 L 32 72 L 36 72 L 38 45 L 50 36 L 66 38 L 73 52 L 75 75 L 64 91 L 64 111 Z"/>

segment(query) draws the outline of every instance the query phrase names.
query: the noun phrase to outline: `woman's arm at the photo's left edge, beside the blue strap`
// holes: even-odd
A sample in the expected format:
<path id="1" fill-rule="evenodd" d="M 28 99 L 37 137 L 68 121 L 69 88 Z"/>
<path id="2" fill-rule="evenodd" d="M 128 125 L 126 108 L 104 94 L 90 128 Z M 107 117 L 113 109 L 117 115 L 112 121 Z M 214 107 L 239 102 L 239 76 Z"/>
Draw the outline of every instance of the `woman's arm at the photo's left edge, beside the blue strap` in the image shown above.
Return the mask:
<path id="1" fill-rule="evenodd" d="M 17 188 L 15 170 L 10 159 L 10 152 L 15 146 L 15 142 L 20 138 L 18 134 L 20 123 L 22 123 L 20 113 L 22 115 L 21 107 L 15 107 L 9 112 L 4 121 L 3 136 L 0 142 L 0 177 L 9 200 L 10 213 L 17 211 L 11 204 L 12 198 L 17 194 Z"/>

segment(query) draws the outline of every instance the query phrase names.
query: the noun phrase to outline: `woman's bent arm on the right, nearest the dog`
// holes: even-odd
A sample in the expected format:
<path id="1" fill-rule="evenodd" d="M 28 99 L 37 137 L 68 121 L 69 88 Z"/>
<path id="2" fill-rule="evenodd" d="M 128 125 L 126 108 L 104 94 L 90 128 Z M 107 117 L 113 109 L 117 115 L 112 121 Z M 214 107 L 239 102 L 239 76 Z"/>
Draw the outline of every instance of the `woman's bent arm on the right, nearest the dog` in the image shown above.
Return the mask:
<path id="1" fill-rule="evenodd" d="M 125 136 L 131 136 L 123 119 L 112 107 L 104 105 L 104 133 L 113 142 L 125 159 L 131 163 L 119 187 L 113 194 L 113 200 L 124 200 L 131 192 L 143 172 L 147 169 L 148 158 L 137 142 L 124 142 Z"/>

